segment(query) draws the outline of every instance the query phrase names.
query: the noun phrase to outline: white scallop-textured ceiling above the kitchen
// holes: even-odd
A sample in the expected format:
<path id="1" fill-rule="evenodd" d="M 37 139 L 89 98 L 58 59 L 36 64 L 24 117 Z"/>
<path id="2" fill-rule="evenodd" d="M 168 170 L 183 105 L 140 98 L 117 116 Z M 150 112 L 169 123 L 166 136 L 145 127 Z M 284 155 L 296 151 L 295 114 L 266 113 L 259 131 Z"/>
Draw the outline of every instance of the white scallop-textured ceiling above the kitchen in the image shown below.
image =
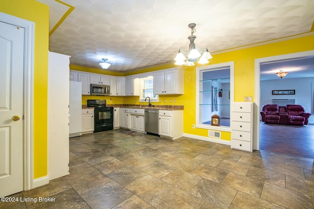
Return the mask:
<path id="1" fill-rule="evenodd" d="M 107 58 L 115 71 L 173 61 L 188 50 L 189 23 L 196 48 L 217 52 L 306 33 L 314 22 L 314 0 L 38 1 L 50 6 L 50 30 L 58 26 L 51 51 L 92 68 Z"/>

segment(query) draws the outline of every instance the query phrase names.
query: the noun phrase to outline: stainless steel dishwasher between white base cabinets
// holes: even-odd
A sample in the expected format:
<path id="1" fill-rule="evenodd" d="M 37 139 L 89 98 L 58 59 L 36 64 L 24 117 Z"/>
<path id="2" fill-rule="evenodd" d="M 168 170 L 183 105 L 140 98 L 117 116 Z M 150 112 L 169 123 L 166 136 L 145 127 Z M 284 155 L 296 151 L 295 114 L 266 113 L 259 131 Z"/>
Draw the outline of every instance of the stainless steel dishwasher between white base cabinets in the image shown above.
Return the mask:
<path id="1" fill-rule="evenodd" d="M 145 109 L 145 132 L 147 134 L 158 135 L 158 110 Z"/>

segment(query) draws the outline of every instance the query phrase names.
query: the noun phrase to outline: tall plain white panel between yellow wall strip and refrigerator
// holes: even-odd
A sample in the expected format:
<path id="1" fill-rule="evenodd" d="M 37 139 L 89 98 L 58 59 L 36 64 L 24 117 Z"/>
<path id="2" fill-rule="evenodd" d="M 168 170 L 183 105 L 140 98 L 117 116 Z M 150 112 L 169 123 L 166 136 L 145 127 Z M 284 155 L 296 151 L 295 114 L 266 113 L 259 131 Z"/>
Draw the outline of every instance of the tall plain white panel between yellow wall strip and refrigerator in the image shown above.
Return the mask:
<path id="1" fill-rule="evenodd" d="M 70 56 L 49 52 L 47 91 L 49 181 L 69 174 L 69 64 Z"/>

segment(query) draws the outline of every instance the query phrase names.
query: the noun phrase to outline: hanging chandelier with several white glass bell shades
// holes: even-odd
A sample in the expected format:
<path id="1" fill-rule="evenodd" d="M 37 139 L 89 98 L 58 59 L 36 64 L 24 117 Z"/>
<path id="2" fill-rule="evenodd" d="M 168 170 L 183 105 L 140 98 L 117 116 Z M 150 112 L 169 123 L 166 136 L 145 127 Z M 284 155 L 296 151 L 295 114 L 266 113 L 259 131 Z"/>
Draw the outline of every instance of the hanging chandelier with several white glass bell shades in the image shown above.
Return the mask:
<path id="1" fill-rule="evenodd" d="M 185 53 L 179 49 L 179 52 L 175 58 L 175 65 L 194 66 L 194 62 L 197 61 L 199 57 L 201 58 L 197 63 L 206 64 L 209 63 L 208 60 L 212 58 L 207 48 L 204 50 L 202 56 L 201 53 L 195 48 L 194 40 L 196 39 L 196 36 L 193 35 L 196 32 L 195 26 L 195 23 L 188 24 L 188 27 L 191 28 L 191 35 L 187 37 L 187 39 L 190 40 L 190 44 L 188 45 L 189 50 L 187 53 Z M 183 53 L 186 54 L 187 57 L 185 57 Z"/>

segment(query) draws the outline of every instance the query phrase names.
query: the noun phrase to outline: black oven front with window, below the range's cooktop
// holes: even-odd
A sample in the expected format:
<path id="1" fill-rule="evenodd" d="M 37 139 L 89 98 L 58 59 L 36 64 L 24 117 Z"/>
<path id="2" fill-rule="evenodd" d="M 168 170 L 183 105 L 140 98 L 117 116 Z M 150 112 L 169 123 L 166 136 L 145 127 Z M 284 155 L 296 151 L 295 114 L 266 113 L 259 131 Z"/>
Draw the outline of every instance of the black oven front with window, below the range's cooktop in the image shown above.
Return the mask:
<path id="1" fill-rule="evenodd" d="M 95 108 L 95 130 L 94 132 L 113 129 L 113 108 Z"/>

